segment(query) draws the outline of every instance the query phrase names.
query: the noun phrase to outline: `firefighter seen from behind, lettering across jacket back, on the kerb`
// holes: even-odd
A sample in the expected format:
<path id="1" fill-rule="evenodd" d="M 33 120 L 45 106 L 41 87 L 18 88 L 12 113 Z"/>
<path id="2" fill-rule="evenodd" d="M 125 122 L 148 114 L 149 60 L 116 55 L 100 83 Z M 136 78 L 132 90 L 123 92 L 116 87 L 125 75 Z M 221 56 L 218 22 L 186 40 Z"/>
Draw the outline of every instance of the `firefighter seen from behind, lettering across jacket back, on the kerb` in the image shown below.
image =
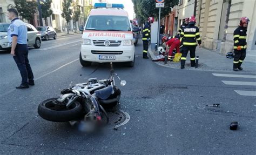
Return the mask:
<path id="1" fill-rule="evenodd" d="M 197 47 L 197 42 L 199 44 L 199 47 L 201 47 L 201 38 L 199 34 L 199 28 L 195 26 L 195 24 L 196 24 L 196 18 L 194 16 L 191 16 L 189 19 L 188 25 L 185 26 L 185 28 L 180 33 L 180 37 L 182 38 L 182 42 L 183 42 L 180 69 L 185 68 L 185 62 L 186 62 L 188 50 L 190 51 L 191 67 L 194 67 L 196 65 L 196 47 Z"/>

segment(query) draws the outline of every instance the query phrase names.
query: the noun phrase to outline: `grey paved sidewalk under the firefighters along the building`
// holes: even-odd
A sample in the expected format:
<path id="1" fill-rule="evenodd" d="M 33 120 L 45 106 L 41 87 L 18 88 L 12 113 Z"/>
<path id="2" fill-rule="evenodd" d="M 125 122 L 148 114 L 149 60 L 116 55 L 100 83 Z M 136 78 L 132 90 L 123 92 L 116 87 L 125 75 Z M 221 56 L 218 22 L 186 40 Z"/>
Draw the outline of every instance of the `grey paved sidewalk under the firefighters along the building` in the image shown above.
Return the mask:
<path id="1" fill-rule="evenodd" d="M 154 49 L 149 49 L 151 57 L 158 55 Z M 234 72 L 233 69 L 233 59 L 226 58 L 225 55 L 221 55 L 217 51 L 213 52 L 204 48 L 197 47 L 196 56 L 199 56 L 198 68 L 191 68 L 190 66 L 190 52 L 188 52 L 187 60 L 185 64 L 186 70 L 204 70 L 204 71 L 230 71 Z M 165 66 L 173 69 L 180 69 L 180 62 L 156 62 L 158 65 Z M 234 72 L 234 73 L 256 73 L 256 51 L 248 51 L 244 63 L 242 63 L 242 68 L 244 70 Z"/>

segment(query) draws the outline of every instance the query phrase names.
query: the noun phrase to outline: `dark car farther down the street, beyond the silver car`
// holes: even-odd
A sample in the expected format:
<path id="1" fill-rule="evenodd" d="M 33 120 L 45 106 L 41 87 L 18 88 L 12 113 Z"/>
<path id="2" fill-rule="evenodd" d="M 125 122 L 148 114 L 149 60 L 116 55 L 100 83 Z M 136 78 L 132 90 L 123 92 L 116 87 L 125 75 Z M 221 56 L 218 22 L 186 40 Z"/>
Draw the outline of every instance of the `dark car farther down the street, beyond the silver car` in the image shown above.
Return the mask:
<path id="1" fill-rule="evenodd" d="M 51 26 L 39 26 L 36 29 L 41 33 L 41 38 L 46 41 L 49 38 L 57 39 L 57 33 Z"/>

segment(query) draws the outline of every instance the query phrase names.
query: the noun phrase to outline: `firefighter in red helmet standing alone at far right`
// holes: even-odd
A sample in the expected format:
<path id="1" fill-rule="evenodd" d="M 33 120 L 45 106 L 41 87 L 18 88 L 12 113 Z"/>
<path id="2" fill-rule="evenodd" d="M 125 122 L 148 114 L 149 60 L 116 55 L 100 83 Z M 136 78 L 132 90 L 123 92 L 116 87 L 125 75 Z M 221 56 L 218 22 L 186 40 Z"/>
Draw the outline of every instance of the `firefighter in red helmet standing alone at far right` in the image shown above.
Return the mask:
<path id="1" fill-rule="evenodd" d="M 237 29 L 234 30 L 234 62 L 233 71 L 242 70 L 241 64 L 246 56 L 246 31 L 249 18 L 242 17 Z"/>

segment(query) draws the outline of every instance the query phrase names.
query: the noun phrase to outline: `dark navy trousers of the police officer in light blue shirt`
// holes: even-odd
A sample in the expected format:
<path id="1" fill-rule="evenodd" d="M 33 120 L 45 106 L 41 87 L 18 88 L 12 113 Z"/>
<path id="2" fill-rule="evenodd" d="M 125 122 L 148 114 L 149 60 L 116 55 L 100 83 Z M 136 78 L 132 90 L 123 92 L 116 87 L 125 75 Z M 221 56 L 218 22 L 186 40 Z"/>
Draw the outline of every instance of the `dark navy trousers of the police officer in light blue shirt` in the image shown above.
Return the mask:
<path id="1" fill-rule="evenodd" d="M 33 72 L 28 59 L 28 46 L 26 44 L 17 44 L 15 48 L 14 60 L 21 72 L 22 84 L 33 82 Z"/>

